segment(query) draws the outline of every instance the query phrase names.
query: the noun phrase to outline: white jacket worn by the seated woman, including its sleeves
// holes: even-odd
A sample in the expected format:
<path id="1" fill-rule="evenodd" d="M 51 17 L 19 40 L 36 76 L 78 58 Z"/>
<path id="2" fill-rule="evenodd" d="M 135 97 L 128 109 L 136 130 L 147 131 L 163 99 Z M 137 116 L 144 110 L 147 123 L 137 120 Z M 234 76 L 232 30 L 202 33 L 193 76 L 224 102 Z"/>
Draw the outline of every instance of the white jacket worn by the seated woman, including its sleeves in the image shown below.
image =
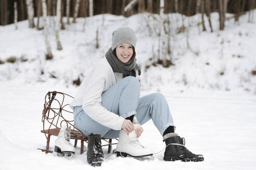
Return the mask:
<path id="1" fill-rule="evenodd" d="M 122 74 L 114 73 L 107 59 L 88 70 L 70 107 L 82 106 L 86 114 L 96 122 L 113 130 L 121 130 L 124 118 L 101 106 L 101 94 L 122 79 Z M 137 121 L 134 117 L 134 121 Z"/>

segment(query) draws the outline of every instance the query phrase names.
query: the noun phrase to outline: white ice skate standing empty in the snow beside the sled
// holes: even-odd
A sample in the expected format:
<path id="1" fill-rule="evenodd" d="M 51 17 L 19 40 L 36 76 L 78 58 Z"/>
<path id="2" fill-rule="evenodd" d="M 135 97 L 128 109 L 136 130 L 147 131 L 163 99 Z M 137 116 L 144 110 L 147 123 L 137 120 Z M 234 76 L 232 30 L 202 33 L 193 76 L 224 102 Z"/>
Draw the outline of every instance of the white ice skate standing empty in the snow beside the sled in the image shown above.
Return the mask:
<path id="1" fill-rule="evenodd" d="M 59 157 L 71 159 L 75 153 L 74 146 L 70 143 L 71 126 L 63 125 L 59 131 L 58 138 L 55 140 L 54 151 Z"/>

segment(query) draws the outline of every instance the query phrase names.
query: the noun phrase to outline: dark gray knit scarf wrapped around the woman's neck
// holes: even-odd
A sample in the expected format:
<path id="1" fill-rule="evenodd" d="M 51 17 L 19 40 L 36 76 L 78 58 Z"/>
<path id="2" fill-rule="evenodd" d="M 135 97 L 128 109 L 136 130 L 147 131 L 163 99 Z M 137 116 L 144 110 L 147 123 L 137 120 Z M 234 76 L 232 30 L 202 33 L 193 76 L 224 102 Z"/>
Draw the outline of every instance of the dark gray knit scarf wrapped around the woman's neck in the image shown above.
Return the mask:
<path id="1" fill-rule="evenodd" d="M 113 51 L 111 48 L 106 52 L 105 54 L 108 63 L 112 67 L 113 72 L 116 73 L 122 73 L 123 78 L 127 76 L 134 76 L 136 77 L 136 69 L 138 70 L 138 75 L 141 74 L 141 69 L 136 63 L 135 60 L 130 60 L 127 63 L 121 62 L 116 55 L 113 54 Z"/>

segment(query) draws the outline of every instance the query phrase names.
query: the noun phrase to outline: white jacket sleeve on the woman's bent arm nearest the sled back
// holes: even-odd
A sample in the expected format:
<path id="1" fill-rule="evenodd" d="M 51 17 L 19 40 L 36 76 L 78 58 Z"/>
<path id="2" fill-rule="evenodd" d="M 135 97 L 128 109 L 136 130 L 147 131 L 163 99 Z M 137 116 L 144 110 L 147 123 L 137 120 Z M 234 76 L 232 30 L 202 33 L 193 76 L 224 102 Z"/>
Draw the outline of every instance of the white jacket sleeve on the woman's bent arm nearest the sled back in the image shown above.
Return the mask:
<path id="1" fill-rule="evenodd" d="M 96 122 L 113 130 L 121 130 L 124 118 L 101 105 L 101 94 L 104 91 L 107 76 L 106 70 L 102 68 L 92 72 L 87 79 L 82 107 L 86 114 Z"/>

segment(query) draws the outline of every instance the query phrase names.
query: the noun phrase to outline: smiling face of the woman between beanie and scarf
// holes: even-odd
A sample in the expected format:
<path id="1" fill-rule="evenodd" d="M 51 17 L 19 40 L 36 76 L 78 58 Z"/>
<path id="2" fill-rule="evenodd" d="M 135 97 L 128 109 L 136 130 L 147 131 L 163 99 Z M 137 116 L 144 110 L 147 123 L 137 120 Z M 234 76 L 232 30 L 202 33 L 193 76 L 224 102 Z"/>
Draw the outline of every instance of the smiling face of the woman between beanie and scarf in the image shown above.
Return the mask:
<path id="1" fill-rule="evenodd" d="M 127 63 L 133 56 L 133 46 L 130 43 L 120 44 L 116 48 L 116 53 L 121 62 Z"/>

